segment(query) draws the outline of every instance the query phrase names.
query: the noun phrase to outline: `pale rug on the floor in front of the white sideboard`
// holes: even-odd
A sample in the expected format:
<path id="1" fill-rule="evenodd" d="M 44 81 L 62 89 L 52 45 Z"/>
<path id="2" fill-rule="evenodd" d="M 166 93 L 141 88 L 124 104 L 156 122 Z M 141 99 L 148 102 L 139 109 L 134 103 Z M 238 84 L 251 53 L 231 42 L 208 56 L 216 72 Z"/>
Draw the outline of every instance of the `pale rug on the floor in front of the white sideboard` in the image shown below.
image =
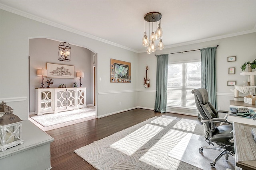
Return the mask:
<path id="1" fill-rule="evenodd" d="M 48 113 L 40 116 L 32 116 L 30 118 L 34 119 L 44 127 L 48 127 L 90 116 L 95 116 L 95 109 L 86 107 L 77 110 L 63 111 L 59 113 Z"/>

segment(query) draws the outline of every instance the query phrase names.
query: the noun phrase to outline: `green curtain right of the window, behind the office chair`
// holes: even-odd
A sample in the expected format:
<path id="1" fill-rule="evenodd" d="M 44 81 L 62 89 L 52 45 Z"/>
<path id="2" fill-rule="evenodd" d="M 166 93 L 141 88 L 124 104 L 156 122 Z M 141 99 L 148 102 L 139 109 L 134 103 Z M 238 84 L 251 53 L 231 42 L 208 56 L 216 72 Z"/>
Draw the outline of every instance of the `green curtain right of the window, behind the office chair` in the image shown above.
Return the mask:
<path id="1" fill-rule="evenodd" d="M 216 47 L 200 49 L 201 51 L 201 88 L 208 92 L 209 102 L 216 109 Z"/>

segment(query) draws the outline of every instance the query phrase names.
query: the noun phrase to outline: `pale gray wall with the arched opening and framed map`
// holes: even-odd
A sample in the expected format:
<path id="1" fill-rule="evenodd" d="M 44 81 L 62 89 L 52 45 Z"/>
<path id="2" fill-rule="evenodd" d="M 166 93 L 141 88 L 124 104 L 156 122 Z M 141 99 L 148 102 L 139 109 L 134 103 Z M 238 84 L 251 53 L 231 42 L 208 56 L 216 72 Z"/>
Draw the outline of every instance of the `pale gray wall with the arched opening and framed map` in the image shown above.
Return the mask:
<path id="1" fill-rule="evenodd" d="M 74 30 L 66 31 L 2 9 L 0 16 L 0 100 L 7 102 L 7 105 L 14 109 L 14 114 L 22 120 L 28 119 L 29 115 L 28 45 L 29 39 L 34 38 L 65 41 L 89 49 L 96 54 L 96 114 L 98 117 L 138 106 L 137 92 L 134 90 L 136 89 L 137 53 L 90 39 L 74 33 Z M 110 59 L 132 63 L 131 83 L 110 83 Z M 39 78 L 36 77 L 36 79 L 40 84 Z M 119 105 L 119 102 L 122 104 Z"/>

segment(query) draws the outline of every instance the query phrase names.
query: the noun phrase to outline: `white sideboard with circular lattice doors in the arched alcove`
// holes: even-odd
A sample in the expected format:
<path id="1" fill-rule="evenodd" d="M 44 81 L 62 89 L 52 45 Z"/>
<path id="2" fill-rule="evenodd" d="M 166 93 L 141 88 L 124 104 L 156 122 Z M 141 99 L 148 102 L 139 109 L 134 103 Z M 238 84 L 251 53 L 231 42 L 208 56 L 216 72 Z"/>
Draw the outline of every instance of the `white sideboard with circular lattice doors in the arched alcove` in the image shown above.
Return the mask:
<path id="1" fill-rule="evenodd" d="M 36 89 L 36 114 L 58 113 L 86 107 L 86 88 Z"/>

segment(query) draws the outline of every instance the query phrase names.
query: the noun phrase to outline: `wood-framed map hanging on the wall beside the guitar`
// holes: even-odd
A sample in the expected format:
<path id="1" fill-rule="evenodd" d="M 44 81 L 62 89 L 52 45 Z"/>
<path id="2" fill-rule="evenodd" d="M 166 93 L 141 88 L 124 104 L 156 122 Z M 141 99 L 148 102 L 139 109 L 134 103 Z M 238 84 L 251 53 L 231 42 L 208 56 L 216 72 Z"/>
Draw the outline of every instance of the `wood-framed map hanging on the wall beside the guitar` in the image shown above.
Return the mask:
<path id="1" fill-rule="evenodd" d="M 112 83 L 130 83 L 131 82 L 131 63 L 110 60 L 110 82 Z"/>

